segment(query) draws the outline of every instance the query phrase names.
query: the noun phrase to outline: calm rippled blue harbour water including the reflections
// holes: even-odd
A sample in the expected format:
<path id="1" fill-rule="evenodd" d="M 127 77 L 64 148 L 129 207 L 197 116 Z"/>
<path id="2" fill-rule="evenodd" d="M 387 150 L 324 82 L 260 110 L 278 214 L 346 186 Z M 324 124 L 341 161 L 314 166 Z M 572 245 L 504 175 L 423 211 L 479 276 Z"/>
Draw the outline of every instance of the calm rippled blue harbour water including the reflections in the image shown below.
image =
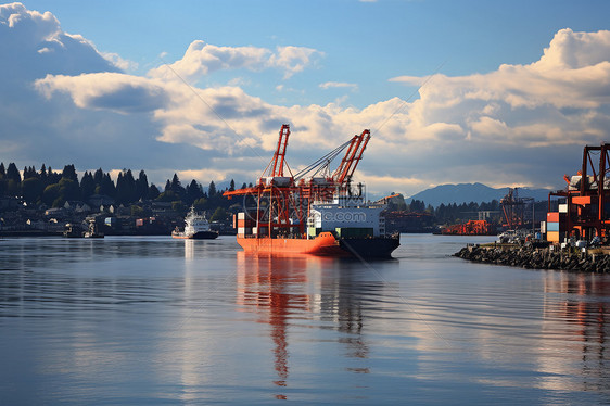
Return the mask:
<path id="1" fill-rule="evenodd" d="M 490 240 L 0 240 L 0 404 L 610 404 L 610 277 L 449 256 Z"/>

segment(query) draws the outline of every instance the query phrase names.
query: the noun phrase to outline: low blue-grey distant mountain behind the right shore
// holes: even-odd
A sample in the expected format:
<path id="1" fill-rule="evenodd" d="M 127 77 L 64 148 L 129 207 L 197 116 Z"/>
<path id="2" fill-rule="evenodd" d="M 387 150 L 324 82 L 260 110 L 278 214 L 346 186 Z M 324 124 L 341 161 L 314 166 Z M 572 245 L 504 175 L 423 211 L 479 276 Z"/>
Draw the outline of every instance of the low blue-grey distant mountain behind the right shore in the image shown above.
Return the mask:
<path id="1" fill-rule="evenodd" d="M 423 201 L 427 205 L 431 204 L 437 207 L 441 203 L 481 203 L 491 202 L 492 200 L 499 201 L 508 193 L 509 188 L 494 189 L 483 183 L 459 183 L 459 185 L 441 185 L 435 188 L 427 189 L 412 196 L 406 199 L 409 204 L 412 200 Z M 534 198 L 536 201 L 548 199 L 547 189 L 518 189 L 520 198 Z"/>

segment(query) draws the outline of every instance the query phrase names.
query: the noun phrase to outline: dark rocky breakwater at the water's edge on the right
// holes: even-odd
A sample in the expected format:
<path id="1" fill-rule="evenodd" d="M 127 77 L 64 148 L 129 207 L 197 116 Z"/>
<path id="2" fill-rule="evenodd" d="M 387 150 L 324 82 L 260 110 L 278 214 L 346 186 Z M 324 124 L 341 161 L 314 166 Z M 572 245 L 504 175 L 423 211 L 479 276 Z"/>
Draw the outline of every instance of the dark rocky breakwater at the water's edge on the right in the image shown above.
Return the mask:
<path id="1" fill-rule="evenodd" d="M 552 251 L 532 246 L 466 246 L 454 256 L 496 265 L 530 269 L 561 269 L 583 272 L 610 272 L 610 255 L 595 250 L 587 252 Z"/>

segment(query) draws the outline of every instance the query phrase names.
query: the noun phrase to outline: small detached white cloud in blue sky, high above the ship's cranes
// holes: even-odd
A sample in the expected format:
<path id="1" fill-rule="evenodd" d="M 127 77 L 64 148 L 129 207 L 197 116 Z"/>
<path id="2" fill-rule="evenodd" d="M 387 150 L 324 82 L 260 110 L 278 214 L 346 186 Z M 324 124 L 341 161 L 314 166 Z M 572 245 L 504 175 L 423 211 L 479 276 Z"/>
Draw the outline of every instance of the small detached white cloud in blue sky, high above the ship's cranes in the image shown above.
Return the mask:
<path id="1" fill-rule="evenodd" d="M 181 60 L 151 69 L 149 76 L 165 80 L 199 79 L 216 71 L 279 68 L 288 78 L 302 72 L 316 56 L 315 49 L 278 47 L 276 52 L 257 47 L 218 47 L 202 40 L 191 42 Z"/>

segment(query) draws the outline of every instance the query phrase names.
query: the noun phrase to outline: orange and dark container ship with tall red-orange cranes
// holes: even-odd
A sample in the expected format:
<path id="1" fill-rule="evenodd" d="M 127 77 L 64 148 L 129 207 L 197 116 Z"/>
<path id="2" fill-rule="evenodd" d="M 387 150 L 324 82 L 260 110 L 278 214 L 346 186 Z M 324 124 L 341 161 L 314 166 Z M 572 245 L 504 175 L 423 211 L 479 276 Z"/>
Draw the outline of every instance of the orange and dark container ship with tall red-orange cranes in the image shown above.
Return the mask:
<path id="1" fill-rule="evenodd" d="M 259 254 L 390 257 L 399 234 L 385 232 L 385 201 L 367 201 L 365 186 L 352 185 L 370 131 L 294 175 L 285 162 L 289 136 L 284 124 L 274 157 L 254 187 L 225 192 L 229 199 L 243 199 L 244 211 L 233 217 L 238 243 Z M 332 161 L 343 151 L 331 172 Z"/>

